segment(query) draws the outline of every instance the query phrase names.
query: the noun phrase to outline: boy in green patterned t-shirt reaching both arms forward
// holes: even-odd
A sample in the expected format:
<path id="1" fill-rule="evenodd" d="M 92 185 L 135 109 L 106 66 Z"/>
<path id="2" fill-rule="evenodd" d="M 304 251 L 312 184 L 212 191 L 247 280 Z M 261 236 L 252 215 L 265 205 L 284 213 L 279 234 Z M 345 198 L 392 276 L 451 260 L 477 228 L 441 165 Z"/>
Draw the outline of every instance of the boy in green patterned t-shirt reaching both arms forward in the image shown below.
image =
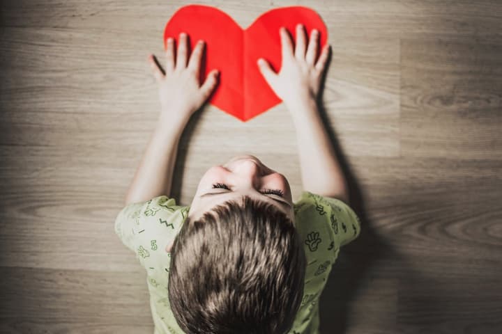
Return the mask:
<path id="1" fill-rule="evenodd" d="M 296 125 L 304 188 L 296 202 L 284 175 L 252 155 L 210 168 L 191 205 L 164 195 L 179 136 L 216 76 L 199 87 L 202 45 L 186 65 L 185 34 L 176 62 L 168 41 L 165 75 L 149 58 L 162 112 L 115 232 L 146 269 L 155 334 L 319 333 L 319 296 L 360 221 L 317 109 L 328 45 L 316 62 L 319 33 L 307 47 L 303 26 L 296 29 L 295 48 L 280 29 L 279 73 L 257 64 Z"/>

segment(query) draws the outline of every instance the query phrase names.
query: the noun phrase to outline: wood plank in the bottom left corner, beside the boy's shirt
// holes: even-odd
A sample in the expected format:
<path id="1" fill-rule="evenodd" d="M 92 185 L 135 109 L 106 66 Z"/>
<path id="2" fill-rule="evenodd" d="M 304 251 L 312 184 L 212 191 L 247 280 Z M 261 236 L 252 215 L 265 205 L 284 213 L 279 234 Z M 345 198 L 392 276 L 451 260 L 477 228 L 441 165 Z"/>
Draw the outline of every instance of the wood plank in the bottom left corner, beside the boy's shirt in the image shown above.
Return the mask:
<path id="1" fill-rule="evenodd" d="M 153 332 L 146 273 L 20 267 L 1 272 L 1 333 Z"/>

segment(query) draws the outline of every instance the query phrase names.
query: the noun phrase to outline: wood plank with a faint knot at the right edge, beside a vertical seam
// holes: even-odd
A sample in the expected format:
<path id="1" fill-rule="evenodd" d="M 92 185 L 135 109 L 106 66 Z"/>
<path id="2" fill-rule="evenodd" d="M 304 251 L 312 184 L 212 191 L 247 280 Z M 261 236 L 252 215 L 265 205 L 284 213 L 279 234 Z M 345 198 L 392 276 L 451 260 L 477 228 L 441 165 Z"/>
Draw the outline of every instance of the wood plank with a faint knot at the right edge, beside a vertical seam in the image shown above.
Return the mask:
<path id="1" fill-rule="evenodd" d="M 502 38 L 402 40 L 401 154 L 502 159 Z"/>

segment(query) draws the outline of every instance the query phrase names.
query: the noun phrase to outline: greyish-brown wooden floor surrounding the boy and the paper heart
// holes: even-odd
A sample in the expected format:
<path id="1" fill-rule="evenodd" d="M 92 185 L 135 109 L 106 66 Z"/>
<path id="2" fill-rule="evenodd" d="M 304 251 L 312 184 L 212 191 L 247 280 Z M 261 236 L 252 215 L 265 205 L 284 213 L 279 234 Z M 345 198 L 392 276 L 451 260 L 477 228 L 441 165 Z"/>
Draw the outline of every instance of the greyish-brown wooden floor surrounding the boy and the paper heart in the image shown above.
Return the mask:
<path id="1" fill-rule="evenodd" d="M 252 2 L 198 3 L 243 27 L 294 5 Z M 188 3 L 1 1 L 1 333 L 153 333 L 146 274 L 113 223 L 160 108 L 146 55 Z M 302 4 L 329 29 L 324 119 L 363 221 L 321 333 L 502 333 L 502 2 Z M 245 123 L 207 106 L 173 197 L 190 204 L 210 166 L 244 153 L 298 198 L 282 104 Z"/>

